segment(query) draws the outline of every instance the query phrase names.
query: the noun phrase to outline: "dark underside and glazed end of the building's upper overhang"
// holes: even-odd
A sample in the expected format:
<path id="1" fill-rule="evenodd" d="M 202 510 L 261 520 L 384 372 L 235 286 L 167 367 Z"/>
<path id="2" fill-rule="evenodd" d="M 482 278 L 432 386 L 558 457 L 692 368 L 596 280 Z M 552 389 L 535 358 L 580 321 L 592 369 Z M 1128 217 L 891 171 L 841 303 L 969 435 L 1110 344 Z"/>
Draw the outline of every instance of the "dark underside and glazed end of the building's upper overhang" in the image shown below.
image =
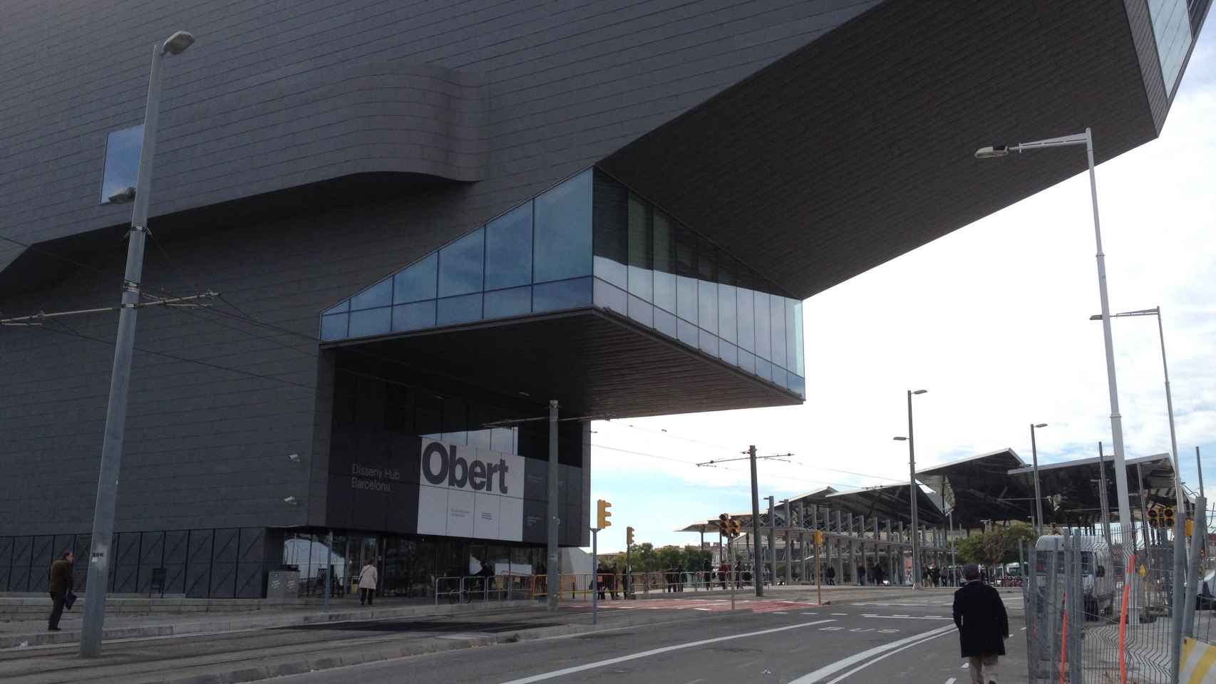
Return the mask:
<path id="1" fill-rule="evenodd" d="M 980 146 L 1088 126 L 1102 163 L 1155 139 L 1189 5 L 883 2 L 602 166 L 809 298 L 1086 168 Z"/>

